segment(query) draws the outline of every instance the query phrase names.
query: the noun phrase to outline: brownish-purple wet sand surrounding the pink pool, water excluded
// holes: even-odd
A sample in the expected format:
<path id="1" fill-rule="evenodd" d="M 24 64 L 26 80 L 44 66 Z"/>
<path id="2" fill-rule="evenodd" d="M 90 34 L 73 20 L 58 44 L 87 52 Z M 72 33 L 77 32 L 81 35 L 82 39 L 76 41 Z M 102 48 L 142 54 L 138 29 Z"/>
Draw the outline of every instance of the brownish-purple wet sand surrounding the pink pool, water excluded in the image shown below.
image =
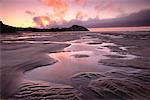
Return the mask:
<path id="1" fill-rule="evenodd" d="M 24 78 L 24 73 L 27 71 L 56 64 L 57 59 L 51 58 L 48 54 L 64 52 L 64 48 L 70 46 L 67 41 L 88 40 L 89 37 L 92 39 L 92 42 L 88 41 L 87 44 L 91 46 L 99 46 L 102 43 L 116 44 L 109 46 L 104 45 L 103 47 L 109 49 L 110 52 L 117 52 L 124 56 L 106 55 L 107 59 L 98 62 L 100 66 L 112 66 L 114 68 L 113 70 L 106 72 L 91 71 L 76 73 L 70 76 L 71 83 L 69 85 L 41 80 L 26 80 Z M 98 40 L 94 40 L 94 38 Z M 135 35 L 121 33 L 117 35 L 113 33 L 59 33 L 53 34 L 50 37 L 30 38 L 29 36 L 29 38 L 24 39 L 20 39 L 19 37 L 12 38 L 12 40 L 9 38 L 3 39 L 1 45 L 3 58 L 1 68 L 3 79 L 1 85 L 2 87 L 6 87 L 7 84 L 12 84 L 9 85 L 9 87 L 7 86 L 7 89 L 2 88 L 2 98 L 42 99 L 45 97 L 49 99 L 76 98 L 77 100 L 97 98 L 150 98 L 148 96 L 148 91 L 150 90 L 150 85 L 148 85 L 150 79 L 150 59 L 148 59 L 150 56 L 149 38 L 149 33 L 137 33 Z M 34 42 L 31 43 L 31 41 Z M 39 41 L 44 42 L 40 43 Z M 45 43 L 45 41 L 50 42 Z M 80 41 L 76 43 L 78 42 L 80 43 Z M 121 49 L 121 47 L 125 48 Z M 101 50 L 102 48 L 97 49 Z M 125 55 L 128 54 L 136 55 L 138 58 L 124 59 L 126 58 Z M 75 57 L 75 59 L 87 59 L 90 56 L 76 54 L 73 55 L 73 57 Z M 129 67 L 129 69 L 127 67 Z M 134 70 L 130 70 L 130 68 Z M 144 68 L 147 68 L 147 70 Z M 121 85 L 123 85 L 124 88 L 122 88 Z M 111 92 L 105 90 L 105 88 L 111 90 Z M 133 90 L 129 91 L 126 89 Z M 141 94 L 140 96 L 138 95 L 139 93 Z"/>

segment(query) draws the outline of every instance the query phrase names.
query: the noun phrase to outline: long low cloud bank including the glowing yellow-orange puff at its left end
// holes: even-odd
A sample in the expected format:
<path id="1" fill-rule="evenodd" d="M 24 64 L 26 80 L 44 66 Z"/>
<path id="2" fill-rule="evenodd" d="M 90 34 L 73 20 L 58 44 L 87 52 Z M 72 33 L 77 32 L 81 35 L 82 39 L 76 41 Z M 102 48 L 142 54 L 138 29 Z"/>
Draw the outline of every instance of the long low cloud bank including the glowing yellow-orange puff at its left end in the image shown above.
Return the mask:
<path id="1" fill-rule="evenodd" d="M 80 15 L 80 14 L 79 14 Z M 150 26 L 150 9 L 141 10 L 136 13 L 132 13 L 125 17 L 118 17 L 112 19 L 99 19 L 89 18 L 88 20 L 80 20 L 80 18 L 70 21 L 63 21 L 61 24 L 50 19 L 48 16 L 37 16 L 34 18 L 36 25 L 41 28 L 52 27 L 70 27 L 74 24 L 83 25 L 88 28 L 100 28 L 100 27 L 131 27 L 131 26 Z M 81 18 L 82 19 L 82 18 Z M 44 21 L 48 21 L 44 24 Z"/>

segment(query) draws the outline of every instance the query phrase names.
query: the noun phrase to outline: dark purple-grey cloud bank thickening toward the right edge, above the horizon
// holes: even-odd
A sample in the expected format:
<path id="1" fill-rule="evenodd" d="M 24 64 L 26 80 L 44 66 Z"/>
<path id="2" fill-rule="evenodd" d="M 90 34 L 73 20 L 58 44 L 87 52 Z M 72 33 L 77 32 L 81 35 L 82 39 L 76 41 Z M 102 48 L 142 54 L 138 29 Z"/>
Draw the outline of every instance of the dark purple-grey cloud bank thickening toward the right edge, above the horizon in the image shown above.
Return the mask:
<path id="1" fill-rule="evenodd" d="M 126 26 L 150 26 L 150 9 L 141 10 L 125 17 L 103 19 L 88 19 L 87 21 L 71 20 L 62 26 L 71 26 L 73 24 L 84 25 L 86 27 L 126 27 Z"/>

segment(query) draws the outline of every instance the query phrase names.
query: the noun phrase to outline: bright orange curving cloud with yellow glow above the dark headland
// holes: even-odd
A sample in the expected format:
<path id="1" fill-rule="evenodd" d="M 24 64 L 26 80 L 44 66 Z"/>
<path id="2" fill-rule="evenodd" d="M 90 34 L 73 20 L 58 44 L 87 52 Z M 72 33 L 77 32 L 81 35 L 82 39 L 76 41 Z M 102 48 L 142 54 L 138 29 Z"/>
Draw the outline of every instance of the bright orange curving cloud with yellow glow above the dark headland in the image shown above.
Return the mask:
<path id="1" fill-rule="evenodd" d="M 40 0 L 45 6 L 53 9 L 53 12 L 46 16 L 35 16 L 33 22 L 36 27 L 48 28 L 55 27 L 65 22 L 64 16 L 69 9 L 69 5 L 66 0 Z M 30 12 L 27 12 L 30 13 Z M 58 24 L 56 24 L 58 23 Z"/>

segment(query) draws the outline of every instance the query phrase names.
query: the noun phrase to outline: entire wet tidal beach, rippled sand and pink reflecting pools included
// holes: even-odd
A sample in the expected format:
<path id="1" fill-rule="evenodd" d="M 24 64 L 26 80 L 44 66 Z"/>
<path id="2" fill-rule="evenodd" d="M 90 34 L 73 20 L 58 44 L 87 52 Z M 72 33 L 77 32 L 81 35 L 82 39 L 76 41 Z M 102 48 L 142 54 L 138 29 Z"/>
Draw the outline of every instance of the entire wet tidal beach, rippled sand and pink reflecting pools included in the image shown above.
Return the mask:
<path id="1" fill-rule="evenodd" d="M 24 33 L 1 41 L 4 99 L 150 99 L 149 32 Z"/>

